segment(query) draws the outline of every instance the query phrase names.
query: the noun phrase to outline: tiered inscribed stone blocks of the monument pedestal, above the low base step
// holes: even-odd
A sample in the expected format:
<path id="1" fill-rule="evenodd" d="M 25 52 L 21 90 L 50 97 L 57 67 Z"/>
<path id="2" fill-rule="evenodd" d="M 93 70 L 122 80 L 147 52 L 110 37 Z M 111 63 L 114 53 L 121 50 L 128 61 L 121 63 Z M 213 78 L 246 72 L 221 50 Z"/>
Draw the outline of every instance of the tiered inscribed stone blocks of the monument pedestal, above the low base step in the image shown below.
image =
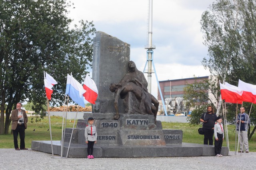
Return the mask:
<path id="1" fill-rule="evenodd" d="M 95 116 L 104 117 L 103 115 L 97 113 Z M 72 134 L 72 144 L 86 145 L 84 129 L 90 116 L 85 113 L 86 119 L 78 119 Z M 98 145 L 162 146 L 166 143 L 182 143 L 182 131 L 162 130 L 160 121 L 157 123 L 159 127 L 154 124 L 154 115 L 121 114 L 119 120 L 96 119 L 94 124 L 97 129 Z M 69 143 L 71 132 L 72 128 L 66 128 L 64 142 Z"/>

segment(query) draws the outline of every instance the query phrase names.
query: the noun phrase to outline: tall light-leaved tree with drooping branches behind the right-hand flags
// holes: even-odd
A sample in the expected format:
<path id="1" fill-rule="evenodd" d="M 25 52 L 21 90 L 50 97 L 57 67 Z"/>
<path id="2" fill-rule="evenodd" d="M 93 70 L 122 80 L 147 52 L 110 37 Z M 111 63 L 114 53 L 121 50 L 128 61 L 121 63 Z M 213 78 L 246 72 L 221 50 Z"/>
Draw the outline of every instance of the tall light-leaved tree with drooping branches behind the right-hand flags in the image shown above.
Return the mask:
<path id="1" fill-rule="evenodd" d="M 227 81 L 237 86 L 238 79 L 256 84 L 255 16 L 255 0 L 216 0 L 202 14 L 201 31 L 204 45 L 208 47 L 208 57 L 202 64 L 223 84 Z M 217 113 L 220 113 L 221 96 L 218 101 Z M 247 105 L 251 104 L 244 102 L 243 106 L 249 112 Z M 232 119 L 236 104 L 226 104 L 226 108 L 229 119 Z M 254 113 L 251 112 L 250 117 L 255 124 Z"/>

